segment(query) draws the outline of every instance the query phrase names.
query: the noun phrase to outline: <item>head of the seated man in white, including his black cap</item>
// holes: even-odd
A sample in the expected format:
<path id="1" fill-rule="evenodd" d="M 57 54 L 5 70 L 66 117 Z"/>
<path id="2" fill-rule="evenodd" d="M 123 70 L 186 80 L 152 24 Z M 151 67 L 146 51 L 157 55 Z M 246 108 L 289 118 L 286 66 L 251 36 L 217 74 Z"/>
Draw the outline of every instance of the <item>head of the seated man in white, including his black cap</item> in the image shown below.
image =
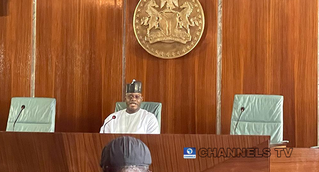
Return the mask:
<path id="1" fill-rule="evenodd" d="M 133 80 L 131 84 L 126 85 L 126 112 L 129 114 L 136 113 L 143 101 L 142 97 L 142 83 Z"/>

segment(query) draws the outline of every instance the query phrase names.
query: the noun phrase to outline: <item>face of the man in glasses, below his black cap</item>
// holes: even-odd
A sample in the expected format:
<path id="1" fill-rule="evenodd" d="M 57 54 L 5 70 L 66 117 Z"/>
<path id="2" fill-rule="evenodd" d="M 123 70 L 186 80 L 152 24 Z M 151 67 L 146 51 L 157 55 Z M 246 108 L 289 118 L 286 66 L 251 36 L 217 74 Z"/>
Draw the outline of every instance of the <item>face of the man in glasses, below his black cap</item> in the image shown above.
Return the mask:
<path id="1" fill-rule="evenodd" d="M 139 110 L 143 101 L 142 94 L 140 93 L 126 93 L 125 102 L 127 112 L 133 114 Z"/>

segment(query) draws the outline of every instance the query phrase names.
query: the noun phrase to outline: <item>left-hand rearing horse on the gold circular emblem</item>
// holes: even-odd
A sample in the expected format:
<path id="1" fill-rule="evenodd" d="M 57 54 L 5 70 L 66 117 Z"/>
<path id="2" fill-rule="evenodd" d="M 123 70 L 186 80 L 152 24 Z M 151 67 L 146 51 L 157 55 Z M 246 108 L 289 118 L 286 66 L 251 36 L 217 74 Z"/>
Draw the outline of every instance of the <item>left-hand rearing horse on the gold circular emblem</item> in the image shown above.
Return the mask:
<path id="1" fill-rule="evenodd" d="M 154 8 L 154 7 L 159 7 L 159 5 L 156 4 L 155 0 L 149 0 L 146 5 L 145 5 L 145 12 L 150 16 L 148 17 L 143 17 L 141 19 L 141 25 L 144 26 L 149 26 L 147 29 L 147 35 L 150 35 L 150 30 L 155 27 L 155 29 L 158 29 L 159 25 L 159 12 Z"/>

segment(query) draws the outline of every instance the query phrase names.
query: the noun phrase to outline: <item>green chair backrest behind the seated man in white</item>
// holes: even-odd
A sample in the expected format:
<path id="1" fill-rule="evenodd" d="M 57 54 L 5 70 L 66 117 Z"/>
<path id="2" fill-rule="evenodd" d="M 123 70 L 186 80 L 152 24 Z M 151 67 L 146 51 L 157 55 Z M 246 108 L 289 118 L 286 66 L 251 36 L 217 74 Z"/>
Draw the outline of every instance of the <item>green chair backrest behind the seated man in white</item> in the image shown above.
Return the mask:
<path id="1" fill-rule="evenodd" d="M 126 109 L 126 103 L 125 102 L 116 102 L 115 104 L 115 112 L 121 111 L 123 109 Z M 152 114 L 155 115 L 157 118 L 157 121 L 159 122 L 160 126 L 160 119 L 161 119 L 161 110 L 162 110 L 162 104 L 158 102 L 142 102 L 141 103 L 141 109 L 144 109 Z"/>

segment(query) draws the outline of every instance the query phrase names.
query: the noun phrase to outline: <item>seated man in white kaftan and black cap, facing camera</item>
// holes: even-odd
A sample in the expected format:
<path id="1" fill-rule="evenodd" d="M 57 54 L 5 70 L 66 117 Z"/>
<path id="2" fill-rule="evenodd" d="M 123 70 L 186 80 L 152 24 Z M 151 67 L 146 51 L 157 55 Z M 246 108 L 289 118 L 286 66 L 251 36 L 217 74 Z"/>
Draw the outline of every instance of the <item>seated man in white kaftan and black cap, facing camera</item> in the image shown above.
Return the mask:
<path id="1" fill-rule="evenodd" d="M 140 108 L 143 101 L 141 89 L 142 84 L 135 80 L 127 85 L 125 96 L 127 109 L 109 115 L 100 133 L 160 134 L 155 115 Z"/>

